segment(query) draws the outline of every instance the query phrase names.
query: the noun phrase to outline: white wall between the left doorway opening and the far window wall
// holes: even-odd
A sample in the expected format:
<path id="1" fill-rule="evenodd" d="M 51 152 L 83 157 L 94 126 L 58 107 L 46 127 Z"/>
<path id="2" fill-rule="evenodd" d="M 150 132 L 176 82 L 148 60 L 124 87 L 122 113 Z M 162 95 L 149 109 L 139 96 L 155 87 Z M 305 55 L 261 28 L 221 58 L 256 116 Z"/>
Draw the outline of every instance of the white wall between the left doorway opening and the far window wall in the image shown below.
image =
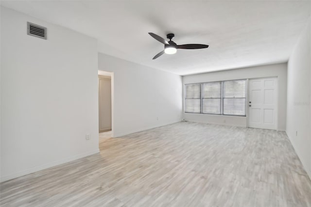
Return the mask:
<path id="1" fill-rule="evenodd" d="M 181 120 L 181 76 L 99 53 L 99 69 L 113 72 L 113 137 Z"/>

